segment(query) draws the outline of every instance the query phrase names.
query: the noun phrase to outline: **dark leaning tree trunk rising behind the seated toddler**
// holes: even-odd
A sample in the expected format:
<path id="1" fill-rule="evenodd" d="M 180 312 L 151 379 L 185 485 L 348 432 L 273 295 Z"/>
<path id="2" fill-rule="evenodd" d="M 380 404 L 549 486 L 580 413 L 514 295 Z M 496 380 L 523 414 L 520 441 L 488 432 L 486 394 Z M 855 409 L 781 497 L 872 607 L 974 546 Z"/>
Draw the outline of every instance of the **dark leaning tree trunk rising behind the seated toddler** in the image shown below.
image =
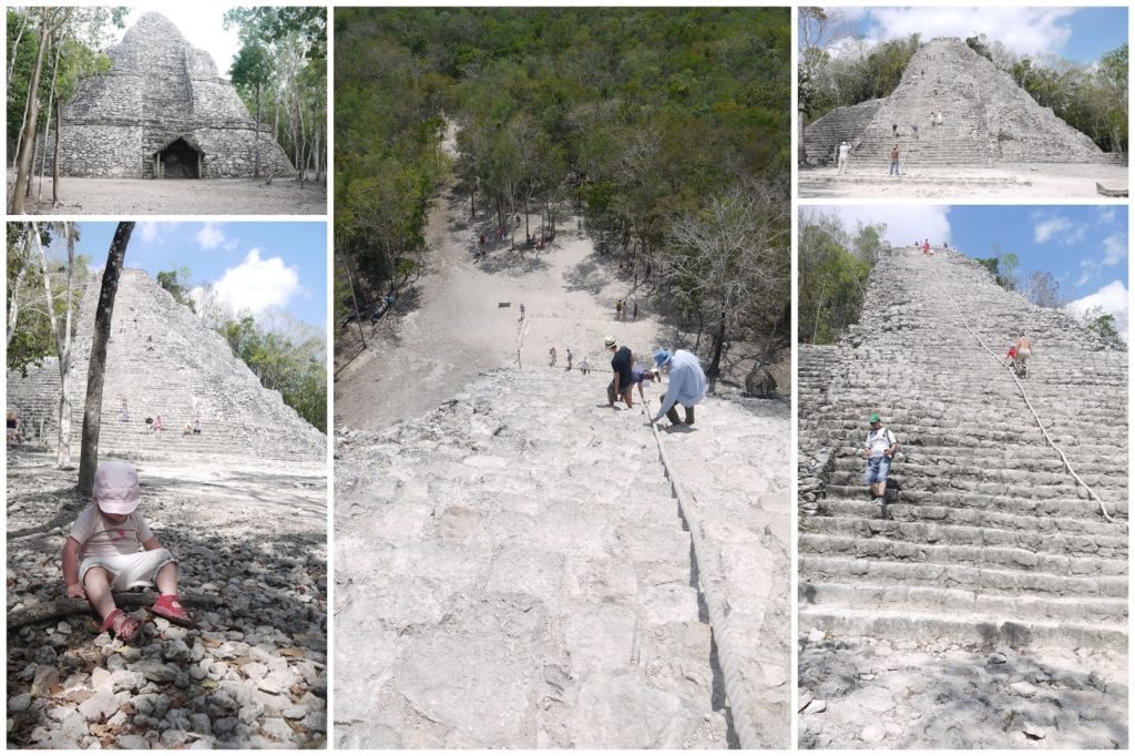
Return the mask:
<path id="1" fill-rule="evenodd" d="M 107 267 L 102 271 L 102 289 L 99 292 L 99 309 L 94 313 L 94 341 L 91 344 L 91 362 L 86 371 L 86 404 L 83 410 L 83 446 L 78 461 L 78 493 L 90 496 L 94 486 L 94 471 L 99 467 L 99 430 L 102 420 L 102 385 L 106 379 L 107 342 L 110 341 L 110 320 L 115 313 L 115 296 L 118 294 L 118 277 L 123 271 L 126 245 L 134 232 L 133 221 L 119 222 L 115 238 L 107 253 Z"/>

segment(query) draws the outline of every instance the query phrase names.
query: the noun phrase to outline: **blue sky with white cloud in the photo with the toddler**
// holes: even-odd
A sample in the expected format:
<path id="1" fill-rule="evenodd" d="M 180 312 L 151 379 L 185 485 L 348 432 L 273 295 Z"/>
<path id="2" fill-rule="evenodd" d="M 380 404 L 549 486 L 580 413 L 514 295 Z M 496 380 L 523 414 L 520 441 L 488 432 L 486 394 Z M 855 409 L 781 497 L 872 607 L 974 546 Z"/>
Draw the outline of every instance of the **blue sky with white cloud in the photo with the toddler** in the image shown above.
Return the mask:
<path id="1" fill-rule="evenodd" d="M 107 262 L 112 222 L 79 222 L 77 252 L 92 268 Z M 327 328 L 327 226 L 322 222 L 140 222 L 126 249 L 127 268 L 151 276 L 188 268 L 234 311 L 269 308 Z"/>

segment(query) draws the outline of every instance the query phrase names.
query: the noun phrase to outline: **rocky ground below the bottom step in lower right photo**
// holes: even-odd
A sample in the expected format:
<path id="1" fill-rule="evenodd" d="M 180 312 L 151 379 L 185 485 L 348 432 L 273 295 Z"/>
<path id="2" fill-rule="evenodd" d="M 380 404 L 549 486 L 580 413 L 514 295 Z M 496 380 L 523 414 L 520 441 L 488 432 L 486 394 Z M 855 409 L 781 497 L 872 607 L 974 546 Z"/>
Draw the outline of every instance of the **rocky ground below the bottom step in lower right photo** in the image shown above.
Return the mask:
<path id="1" fill-rule="evenodd" d="M 813 629 L 797 707 L 800 748 L 1126 749 L 1127 658 Z"/>

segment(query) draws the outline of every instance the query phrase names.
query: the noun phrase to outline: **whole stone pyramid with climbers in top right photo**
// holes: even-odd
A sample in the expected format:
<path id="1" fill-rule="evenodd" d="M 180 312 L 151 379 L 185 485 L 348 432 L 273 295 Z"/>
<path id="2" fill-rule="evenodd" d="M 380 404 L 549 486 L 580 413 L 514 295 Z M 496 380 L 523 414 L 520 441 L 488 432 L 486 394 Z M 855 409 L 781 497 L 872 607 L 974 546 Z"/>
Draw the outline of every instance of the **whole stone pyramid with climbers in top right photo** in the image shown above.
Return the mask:
<path id="1" fill-rule="evenodd" d="M 942 112 L 941 126 L 931 125 L 932 111 Z M 808 162 L 830 162 L 844 138 L 859 165 L 884 165 L 896 144 L 906 163 L 918 166 L 1121 161 L 955 37 L 919 45 L 890 96 L 836 108 L 808 125 Z"/>

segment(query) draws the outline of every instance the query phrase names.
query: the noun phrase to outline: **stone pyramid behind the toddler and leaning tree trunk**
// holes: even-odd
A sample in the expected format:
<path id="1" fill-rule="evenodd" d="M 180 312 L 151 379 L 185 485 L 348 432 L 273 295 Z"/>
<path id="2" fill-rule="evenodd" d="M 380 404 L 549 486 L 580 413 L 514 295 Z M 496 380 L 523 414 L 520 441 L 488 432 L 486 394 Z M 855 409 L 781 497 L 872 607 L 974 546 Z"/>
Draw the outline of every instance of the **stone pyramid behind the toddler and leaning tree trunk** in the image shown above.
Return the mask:
<path id="1" fill-rule="evenodd" d="M 77 313 L 73 341 L 72 454 L 83 431 L 86 372 L 94 334 L 101 271 L 92 275 Z M 120 419 L 126 400 L 129 422 Z M 59 368 L 50 358 L 27 378 L 8 372 L 8 409 L 32 443 L 53 448 L 58 429 Z M 167 430 L 146 431 L 144 419 L 161 415 Z M 201 435 L 184 436 L 197 420 Z M 145 271 L 125 269 L 118 283 L 102 390 L 100 456 L 119 459 L 225 457 L 321 464 L 326 436 L 266 389 L 228 343 L 202 325 Z"/>

